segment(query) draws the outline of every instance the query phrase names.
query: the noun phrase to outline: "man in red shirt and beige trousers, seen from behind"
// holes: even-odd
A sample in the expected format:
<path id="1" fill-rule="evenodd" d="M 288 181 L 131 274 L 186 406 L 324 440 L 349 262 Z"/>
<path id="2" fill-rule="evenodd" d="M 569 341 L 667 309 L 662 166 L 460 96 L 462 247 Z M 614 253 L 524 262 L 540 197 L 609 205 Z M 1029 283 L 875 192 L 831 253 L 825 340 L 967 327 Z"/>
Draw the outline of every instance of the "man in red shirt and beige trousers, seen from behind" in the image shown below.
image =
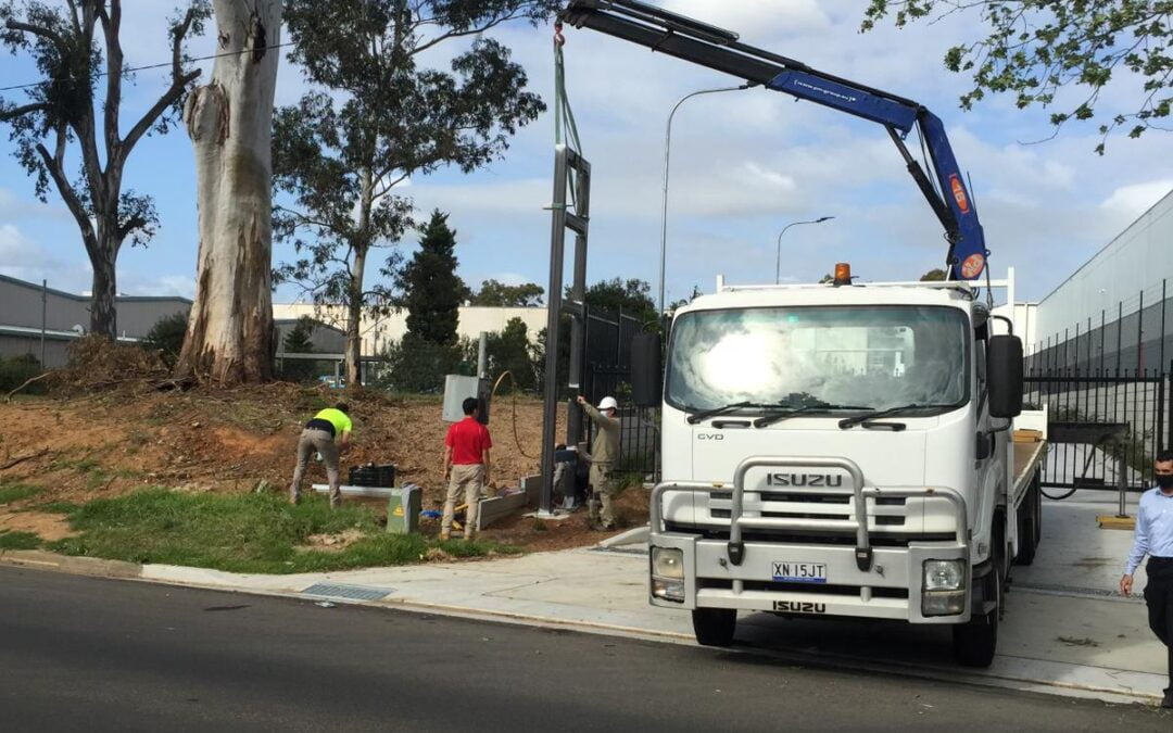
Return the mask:
<path id="1" fill-rule="evenodd" d="M 465 419 L 454 422 L 443 439 L 443 477 L 448 482 L 448 496 L 443 502 L 443 518 L 440 520 L 440 539 L 448 539 L 452 532 L 452 515 L 456 511 L 456 497 L 465 490 L 465 539 L 472 539 L 476 531 L 476 515 L 480 510 L 481 487 L 489 482 L 489 449 L 493 439 L 480 423 L 476 398 L 468 398 L 461 405 Z"/>

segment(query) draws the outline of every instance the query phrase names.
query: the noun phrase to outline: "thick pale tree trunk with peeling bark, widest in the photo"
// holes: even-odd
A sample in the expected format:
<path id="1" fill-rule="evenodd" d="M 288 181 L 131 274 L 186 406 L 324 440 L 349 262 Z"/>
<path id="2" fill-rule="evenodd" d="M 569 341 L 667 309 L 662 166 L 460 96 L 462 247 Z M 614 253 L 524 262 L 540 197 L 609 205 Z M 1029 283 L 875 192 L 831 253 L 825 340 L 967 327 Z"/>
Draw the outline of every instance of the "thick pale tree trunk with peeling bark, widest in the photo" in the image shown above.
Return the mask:
<path id="1" fill-rule="evenodd" d="M 272 376 L 271 135 L 280 0 L 215 0 L 211 83 L 188 96 L 196 156 L 196 300 L 176 367 L 217 385 Z"/>

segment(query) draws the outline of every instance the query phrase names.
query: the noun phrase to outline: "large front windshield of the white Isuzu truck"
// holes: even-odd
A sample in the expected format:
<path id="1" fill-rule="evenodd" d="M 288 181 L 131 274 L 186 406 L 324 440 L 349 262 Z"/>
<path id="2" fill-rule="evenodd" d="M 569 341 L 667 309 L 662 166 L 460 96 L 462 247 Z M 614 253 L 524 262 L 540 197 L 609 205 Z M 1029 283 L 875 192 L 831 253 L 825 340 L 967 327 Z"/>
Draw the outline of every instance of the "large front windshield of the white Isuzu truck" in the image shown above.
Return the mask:
<path id="1" fill-rule="evenodd" d="M 672 326 L 670 405 L 826 402 L 884 409 L 969 399 L 969 324 L 941 306 L 693 311 Z"/>

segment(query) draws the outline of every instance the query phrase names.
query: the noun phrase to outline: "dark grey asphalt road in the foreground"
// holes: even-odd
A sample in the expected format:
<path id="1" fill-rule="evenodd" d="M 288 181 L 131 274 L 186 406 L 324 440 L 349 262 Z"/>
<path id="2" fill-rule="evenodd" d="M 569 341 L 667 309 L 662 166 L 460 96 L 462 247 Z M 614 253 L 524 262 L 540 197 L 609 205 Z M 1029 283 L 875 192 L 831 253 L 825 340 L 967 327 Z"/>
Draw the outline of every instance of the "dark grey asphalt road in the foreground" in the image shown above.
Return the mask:
<path id="1" fill-rule="evenodd" d="M 1140 706 L 0 568 L 5 731 L 1169 731 Z"/>

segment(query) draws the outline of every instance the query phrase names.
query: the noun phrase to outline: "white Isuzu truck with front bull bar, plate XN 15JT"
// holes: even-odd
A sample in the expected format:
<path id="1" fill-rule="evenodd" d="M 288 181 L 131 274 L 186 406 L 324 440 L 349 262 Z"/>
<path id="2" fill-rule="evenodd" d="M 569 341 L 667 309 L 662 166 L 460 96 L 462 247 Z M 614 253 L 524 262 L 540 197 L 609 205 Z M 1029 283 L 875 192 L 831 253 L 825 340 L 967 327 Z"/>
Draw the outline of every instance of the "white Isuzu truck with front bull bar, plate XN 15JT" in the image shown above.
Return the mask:
<path id="1" fill-rule="evenodd" d="M 836 276 L 718 281 L 677 311 L 663 382 L 635 353 L 637 402 L 663 410 L 651 603 L 718 646 L 738 611 L 948 624 L 986 666 L 1040 536 L 1044 443 L 1011 435 L 1022 344 L 969 283 Z M 1013 301 L 1012 271 L 991 285 Z"/>

